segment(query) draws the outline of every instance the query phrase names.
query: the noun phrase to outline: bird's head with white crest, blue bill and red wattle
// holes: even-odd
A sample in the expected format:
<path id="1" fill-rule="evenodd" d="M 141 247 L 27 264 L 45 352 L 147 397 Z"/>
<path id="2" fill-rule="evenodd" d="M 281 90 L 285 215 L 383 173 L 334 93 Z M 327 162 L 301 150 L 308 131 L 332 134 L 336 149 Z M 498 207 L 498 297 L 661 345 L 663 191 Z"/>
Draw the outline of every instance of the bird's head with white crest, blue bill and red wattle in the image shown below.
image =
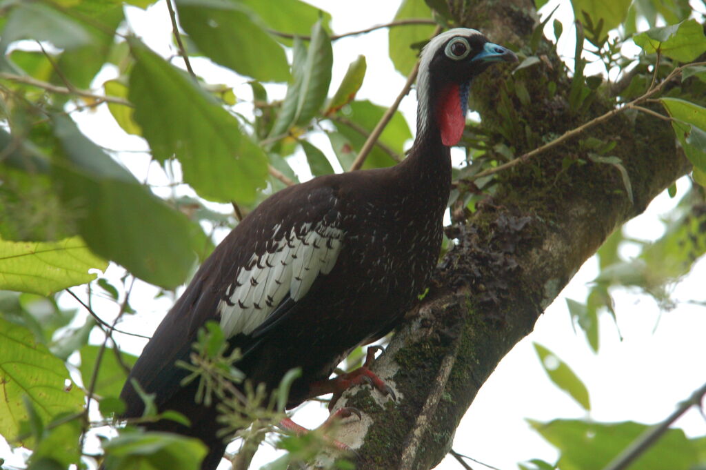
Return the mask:
<path id="1" fill-rule="evenodd" d="M 429 41 L 419 59 L 417 134 L 436 127 L 444 145 L 458 143 L 466 122 L 470 83 L 497 61 L 514 62 L 517 56 L 477 30 L 455 28 Z"/>

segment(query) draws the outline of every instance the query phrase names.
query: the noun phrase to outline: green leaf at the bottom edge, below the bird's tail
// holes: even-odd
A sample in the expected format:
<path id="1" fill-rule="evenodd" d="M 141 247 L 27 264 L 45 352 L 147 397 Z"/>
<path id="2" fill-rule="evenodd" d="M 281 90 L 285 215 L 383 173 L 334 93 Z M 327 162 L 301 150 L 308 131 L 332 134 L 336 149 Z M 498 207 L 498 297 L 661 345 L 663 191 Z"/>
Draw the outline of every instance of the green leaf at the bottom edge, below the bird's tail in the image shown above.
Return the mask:
<path id="1" fill-rule="evenodd" d="M 103 442 L 109 470 L 198 470 L 206 447 L 194 437 L 172 433 L 122 433 Z"/>

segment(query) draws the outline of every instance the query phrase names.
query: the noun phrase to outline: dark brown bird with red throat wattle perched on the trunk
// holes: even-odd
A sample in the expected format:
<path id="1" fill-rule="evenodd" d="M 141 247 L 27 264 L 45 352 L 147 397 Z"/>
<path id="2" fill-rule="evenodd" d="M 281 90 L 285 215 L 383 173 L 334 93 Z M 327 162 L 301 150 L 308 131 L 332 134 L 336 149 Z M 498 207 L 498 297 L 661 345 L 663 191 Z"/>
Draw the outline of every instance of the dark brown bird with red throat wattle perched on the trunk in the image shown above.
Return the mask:
<path id="1" fill-rule="evenodd" d="M 121 418 L 143 415 L 139 384 L 154 394 L 157 409 L 179 411 L 191 422 L 143 427 L 197 437 L 208 447 L 201 468 L 216 468 L 227 444 L 217 403 L 197 403 L 196 383 L 181 386 L 189 371 L 176 365 L 189 361 L 210 320 L 231 349 L 240 349 L 234 365 L 252 383 L 272 391 L 289 370 L 301 370 L 287 409 L 318 394 L 340 394 L 341 384 L 373 382 L 389 394 L 365 368 L 347 382 L 329 377 L 354 348 L 392 331 L 424 292 L 441 250 L 450 147 L 465 127 L 469 86 L 498 61 L 517 57 L 477 30 L 433 37 L 419 57 L 417 135 L 407 158 L 287 187 L 244 217 L 143 349 L 121 392 Z"/>

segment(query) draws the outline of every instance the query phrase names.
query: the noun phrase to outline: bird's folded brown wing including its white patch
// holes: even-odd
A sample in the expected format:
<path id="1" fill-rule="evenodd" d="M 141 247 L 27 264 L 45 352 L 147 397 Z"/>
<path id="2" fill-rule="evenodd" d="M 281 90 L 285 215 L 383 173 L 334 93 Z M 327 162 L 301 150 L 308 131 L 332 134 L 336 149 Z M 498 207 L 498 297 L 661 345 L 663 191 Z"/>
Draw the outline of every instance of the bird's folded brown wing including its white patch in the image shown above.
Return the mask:
<path id="1" fill-rule="evenodd" d="M 165 404 L 187 372 L 198 329 L 220 321 L 228 338 L 252 351 L 267 331 L 295 312 L 316 278 L 328 274 L 343 246 L 339 199 L 327 184 L 299 184 L 265 200 L 203 263 L 133 367 L 121 397 L 125 416 L 139 416 L 142 400 L 130 384 Z"/>

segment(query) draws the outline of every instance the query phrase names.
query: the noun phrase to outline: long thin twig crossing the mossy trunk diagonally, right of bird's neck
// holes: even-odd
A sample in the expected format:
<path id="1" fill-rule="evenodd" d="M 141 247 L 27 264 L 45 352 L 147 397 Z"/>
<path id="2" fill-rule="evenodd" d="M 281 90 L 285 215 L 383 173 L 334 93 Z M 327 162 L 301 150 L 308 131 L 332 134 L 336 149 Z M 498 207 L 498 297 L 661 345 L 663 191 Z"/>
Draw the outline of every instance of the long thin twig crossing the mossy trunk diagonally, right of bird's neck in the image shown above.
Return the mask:
<path id="1" fill-rule="evenodd" d="M 536 155 L 539 155 L 540 153 L 544 153 L 544 152 L 548 151 L 549 149 L 554 148 L 554 147 L 560 145 L 561 143 L 564 143 L 565 141 L 572 139 L 575 136 L 578 136 L 583 131 L 590 129 L 591 127 L 594 127 L 597 124 L 601 124 L 604 121 L 607 121 L 611 117 L 614 117 L 616 114 L 620 114 L 621 112 L 624 112 L 624 111 L 630 110 L 630 109 L 640 110 L 639 108 L 641 108 L 641 107 L 636 106 L 636 105 L 639 105 L 642 102 L 650 102 L 650 97 L 652 97 L 653 95 L 656 95 L 660 90 L 662 90 L 662 88 L 664 88 L 664 86 L 667 83 L 669 83 L 673 78 L 676 78 L 676 76 L 678 74 L 681 74 L 681 71 L 683 69 L 685 69 L 686 67 L 690 67 L 690 66 L 705 65 L 705 64 L 706 64 L 706 62 L 694 62 L 693 64 L 686 64 L 683 66 L 679 66 L 676 69 L 674 69 L 673 71 L 671 71 L 671 74 L 669 74 L 666 78 L 664 78 L 664 80 L 662 82 L 660 82 L 657 86 L 654 86 L 654 88 L 647 90 L 647 92 L 644 95 L 642 95 L 638 98 L 635 98 L 635 100 L 628 102 L 623 107 L 616 108 L 614 110 L 610 110 L 609 112 L 606 112 L 605 114 L 602 114 L 599 117 L 595 117 L 594 119 L 591 119 L 589 122 L 586 122 L 585 124 L 582 124 L 579 127 L 576 127 L 575 129 L 571 129 L 570 131 L 566 131 L 564 134 L 557 137 L 553 141 L 545 143 L 543 146 L 535 148 L 533 151 L 527 152 L 524 155 L 520 155 L 520 157 L 515 158 L 515 160 L 510 160 L 508 163 L 504 163 L 503 165 L 499 165 L 495 168 L 489 168 L 488 170 L 481 171 L 477 175 L 473 175 L 472 177 L 469 177 L 469 180 L 477 180 L 478 178 L 493 175 L 497 172 L 501 172 L 503 170 L 507 170 L 508 168 L 512 168 L 514 166 L 517 166 L 520 163 L 524 163 L 527 160 L 529 160 L 530 158 L 532 158 Z M 662 117 L 664 117 L 664 116 L 662 116 Z"/>

